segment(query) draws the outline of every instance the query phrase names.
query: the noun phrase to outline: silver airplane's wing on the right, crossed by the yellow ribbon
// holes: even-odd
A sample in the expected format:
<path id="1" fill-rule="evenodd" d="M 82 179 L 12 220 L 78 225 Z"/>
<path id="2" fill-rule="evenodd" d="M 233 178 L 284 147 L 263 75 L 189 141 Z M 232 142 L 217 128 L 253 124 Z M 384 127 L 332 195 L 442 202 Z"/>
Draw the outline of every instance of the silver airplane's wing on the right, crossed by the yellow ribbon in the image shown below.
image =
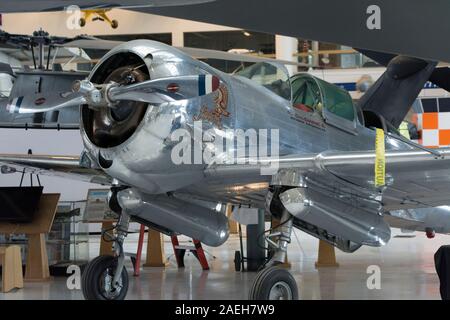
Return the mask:
<path id="1" fill-rule="evenodd" d="M 214 180 L 233 181 L 261 175 L 261 169 L 271 164 L 287 174 L 328 175 L 369 193 L 381 190 L 385 211 L 428 208 L 450 205 L 450 149 L 437 150 L 441 156 L 422 150 L 386 152 L 386 187 L 382 189 L 374 186 L 375 151 L 289 156 L 255 165 L 212 165 L 206 174 Z"/>

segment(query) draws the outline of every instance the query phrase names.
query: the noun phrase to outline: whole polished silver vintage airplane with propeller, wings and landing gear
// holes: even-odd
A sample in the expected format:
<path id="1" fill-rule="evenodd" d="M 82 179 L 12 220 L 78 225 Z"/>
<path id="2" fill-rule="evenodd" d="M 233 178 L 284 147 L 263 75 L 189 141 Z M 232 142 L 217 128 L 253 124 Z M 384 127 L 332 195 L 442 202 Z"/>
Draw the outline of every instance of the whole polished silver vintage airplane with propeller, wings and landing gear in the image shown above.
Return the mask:
<path id="1" fill-rule="evenodd" d="M 116 255 L 87 266 L 87 299 L 125 298 L 130 219 L 220 246 L 228 220 L 208 205 L 218 202 L 265 208 L 281 221 L 267 235 L 270 257 L 249 297 L 296 299 L 294 278 L 279 267 L 294 227 L 345 252 L 385 245 L 390 227 L 413 222 L 450 232 L 442 219 L 448 210 L 437 208 L 450 204 L 450 150 L 426 149 L 396 129 L 435 68 L 395 56 L 355 104 L 346 91 L 308 74 L 289 77 L 271 62 L 229 75 L 176 48 L 132 41 L 71 90 L 10 99 L 11 113 L 80 106 L 85 151 L 2 154 L 2 172 L 110 186 L 110 206 L 120 214 L 107 232 Z M 423 218 L 430 215 L 441 219 Z"/>

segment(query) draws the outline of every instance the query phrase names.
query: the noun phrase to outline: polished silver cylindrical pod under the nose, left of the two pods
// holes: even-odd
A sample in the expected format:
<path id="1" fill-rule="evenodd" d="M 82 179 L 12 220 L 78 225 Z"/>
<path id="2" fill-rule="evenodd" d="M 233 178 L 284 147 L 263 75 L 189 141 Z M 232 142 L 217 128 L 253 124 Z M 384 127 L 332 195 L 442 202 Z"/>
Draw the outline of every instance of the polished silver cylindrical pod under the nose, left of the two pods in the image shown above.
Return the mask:
<path id="1" fill-rule="evenodd" d="M 224 214 L 175 197 L 126 189 L 117 194 L 117 200 L 129 215 L 184 234 L 207 246 L 224 244 L 230 234 L 228 218 Z"/>

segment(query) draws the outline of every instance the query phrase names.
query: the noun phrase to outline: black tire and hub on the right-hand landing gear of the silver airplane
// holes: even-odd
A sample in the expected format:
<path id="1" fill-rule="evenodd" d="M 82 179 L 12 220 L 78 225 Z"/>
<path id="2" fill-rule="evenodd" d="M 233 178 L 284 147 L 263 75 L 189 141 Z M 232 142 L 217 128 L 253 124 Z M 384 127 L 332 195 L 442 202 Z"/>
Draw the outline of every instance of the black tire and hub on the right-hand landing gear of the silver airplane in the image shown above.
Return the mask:
<path id="1" fill-rule="evenodd" d="M 249 293 L 250 300 L 298 300 L 298 287 L 291 273 L 278 266 L 258 273 Z"/>

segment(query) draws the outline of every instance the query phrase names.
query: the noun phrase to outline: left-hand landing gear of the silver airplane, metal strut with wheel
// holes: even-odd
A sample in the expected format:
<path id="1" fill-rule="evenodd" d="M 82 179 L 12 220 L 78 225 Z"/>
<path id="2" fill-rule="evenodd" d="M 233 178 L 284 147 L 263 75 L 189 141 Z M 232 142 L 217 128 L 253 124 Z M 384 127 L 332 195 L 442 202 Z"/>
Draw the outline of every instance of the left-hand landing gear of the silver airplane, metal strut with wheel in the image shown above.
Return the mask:
<path id="1" fill-rule="evenodd" d="M 83 272 L 81 287 L 87 300 L 123 300 L 128 291 L 123 242 L 128 234 L 130 216 L 122 212 L 115 226 L 115 235 L 103 230 L 102 236 L 114 241 L 115 256 L 100 256 L 89 262 Z"/>

